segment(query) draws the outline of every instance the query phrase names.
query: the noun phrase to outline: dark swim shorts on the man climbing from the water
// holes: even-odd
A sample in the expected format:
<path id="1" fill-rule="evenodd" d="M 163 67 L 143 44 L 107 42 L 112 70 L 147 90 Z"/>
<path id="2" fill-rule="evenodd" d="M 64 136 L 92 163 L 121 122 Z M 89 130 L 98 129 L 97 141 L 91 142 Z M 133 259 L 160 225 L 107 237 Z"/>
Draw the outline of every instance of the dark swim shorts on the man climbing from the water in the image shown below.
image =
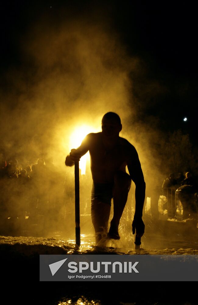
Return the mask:
<path id="1" fill-rule="evenodd" d="M 93 183 L 91 190 L 91 201 L 94 199 L 111 205 L 111 198 L 113 198 L 114 183 Z"/>

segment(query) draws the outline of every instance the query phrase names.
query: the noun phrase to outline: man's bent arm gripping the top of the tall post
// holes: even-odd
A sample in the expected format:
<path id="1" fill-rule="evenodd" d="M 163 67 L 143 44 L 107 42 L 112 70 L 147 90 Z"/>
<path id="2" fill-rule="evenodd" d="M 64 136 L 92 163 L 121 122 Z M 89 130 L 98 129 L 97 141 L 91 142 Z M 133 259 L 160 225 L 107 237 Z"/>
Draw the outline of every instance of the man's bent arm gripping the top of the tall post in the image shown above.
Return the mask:
<path id="1" fill-rule="evenodd" d="M 75 161 L 79 161 L 80 158 L 88 152 L 90 148 L 90 138 L 91 134 L 87 135 L 81 145 L 77 149 L 72 149 L 65 159 L 65 165 L 72 166 Z"/>

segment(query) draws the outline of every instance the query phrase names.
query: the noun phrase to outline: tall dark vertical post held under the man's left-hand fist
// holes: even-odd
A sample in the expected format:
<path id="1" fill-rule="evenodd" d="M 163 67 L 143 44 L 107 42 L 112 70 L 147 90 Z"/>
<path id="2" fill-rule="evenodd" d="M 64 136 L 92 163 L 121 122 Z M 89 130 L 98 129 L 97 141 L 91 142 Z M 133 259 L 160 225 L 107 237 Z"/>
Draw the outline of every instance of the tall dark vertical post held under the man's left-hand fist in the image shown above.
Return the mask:
<path id="1" fill-rule="evenodd" d="M 80 246 L 80 186 L 79 186 L 79 161 L 75 162 L 75 221 L 76 245 Z"/>

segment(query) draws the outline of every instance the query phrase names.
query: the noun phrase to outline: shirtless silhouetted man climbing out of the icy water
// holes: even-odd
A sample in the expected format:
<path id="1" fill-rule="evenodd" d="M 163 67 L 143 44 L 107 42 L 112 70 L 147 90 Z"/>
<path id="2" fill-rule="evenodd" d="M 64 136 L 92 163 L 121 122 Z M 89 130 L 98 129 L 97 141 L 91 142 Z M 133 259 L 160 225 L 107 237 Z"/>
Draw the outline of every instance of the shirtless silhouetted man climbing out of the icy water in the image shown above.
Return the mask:
<path id="1" fill-rule="evenodd" d="M 102 118 L 102 132 L 88 134 L 77 149 L 66 157 L 65 165 L 72 166 L 89 150 L 93 187 L 91 194 L 91 219 L 96 233 L 96 243 L 107 234 L 113 198 L 114 214 L 108 237 L 119 239 L 118 226 L 126 205 L 131 179 L 136 185 L 136 209 L 132 223 L 133 234 L 144 234 L 142 220 L 145 199 L 145 182 L 138 154 L 133 145 L 119 137 L 122 130 L 120 117 L 114 112 Z M 128 167 L 130 176 L 126 173 Z"/>

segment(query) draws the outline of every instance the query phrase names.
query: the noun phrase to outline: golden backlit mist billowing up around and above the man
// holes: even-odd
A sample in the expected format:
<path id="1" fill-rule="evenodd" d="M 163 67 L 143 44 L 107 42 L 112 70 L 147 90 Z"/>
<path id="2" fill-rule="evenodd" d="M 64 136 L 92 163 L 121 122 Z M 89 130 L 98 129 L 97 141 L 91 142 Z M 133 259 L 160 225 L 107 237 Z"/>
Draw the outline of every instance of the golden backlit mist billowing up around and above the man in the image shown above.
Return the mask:
<path id="1" fill-rule="evenodd" d="M 152 146 L 161 141 L 159 122 L 154 117 L 148 121 L 139 118 L 151 97 L 164 94 L 166 88 L 156 80 L 144 88 L 134 88 L 133 78 L 143 76 L 146 67 L 141 58 L 129 55 L 110 16 L 103 16 L 101 22 L 92 11 L 91 17 L 87 13 L 71 15 L 66 20 L 57 19 L 56 25 L 47 16 L 37 20 L 20 36 L 20 56 L 21 66 L 6 71 L 7 87 L 1 91 L 2 160 L 9 163 L 17 159 L 26 168 L 37 164 L 39 158 L 44 159 L 46 166 L 47 160 L 53 159 L 51 179 L 48 172 L 48 179 L 40 181 L 41 189 L 37 190 L 42 192 L 45 187 L 44 193 L 49 196 L 50 189 L 54 198 L 47 231 L 55 213 L 54 230 L 58 231 L 65 222 L 68 229 L 74 228 L 74 168 L 65 167 L 65 157 L 72 148 L 77 148 L 72 146 L 73 131 L 82 126 L 87 127 L 87 133 L 101 131 L 104 113 L 112 111 L 121 117 L 120 136 L 135 146 L 143 173 L 147 173 L 145 180 L 150 192 L 154 185 L 163 182 L 161 156 Z M 82 179 L 82 210 L 87 206 L 82 213 L 90 214 L 88 165 Z M 25 199 L 20 196 L 16 199 L 20 188 L 19 184 L 10 187 L 6 183 L 4 196 L 10 189 L 13 192 L 9 209 L 16 202 L 27 203 L 36 195 L 33 183 L 24 191 L 28 192 Z M 72 215 L 69 221 L 65 215 Z M 58 225 L 60 220 L 63 225 Z M 90 224 L 91 220 L 87 228 Z"/>

